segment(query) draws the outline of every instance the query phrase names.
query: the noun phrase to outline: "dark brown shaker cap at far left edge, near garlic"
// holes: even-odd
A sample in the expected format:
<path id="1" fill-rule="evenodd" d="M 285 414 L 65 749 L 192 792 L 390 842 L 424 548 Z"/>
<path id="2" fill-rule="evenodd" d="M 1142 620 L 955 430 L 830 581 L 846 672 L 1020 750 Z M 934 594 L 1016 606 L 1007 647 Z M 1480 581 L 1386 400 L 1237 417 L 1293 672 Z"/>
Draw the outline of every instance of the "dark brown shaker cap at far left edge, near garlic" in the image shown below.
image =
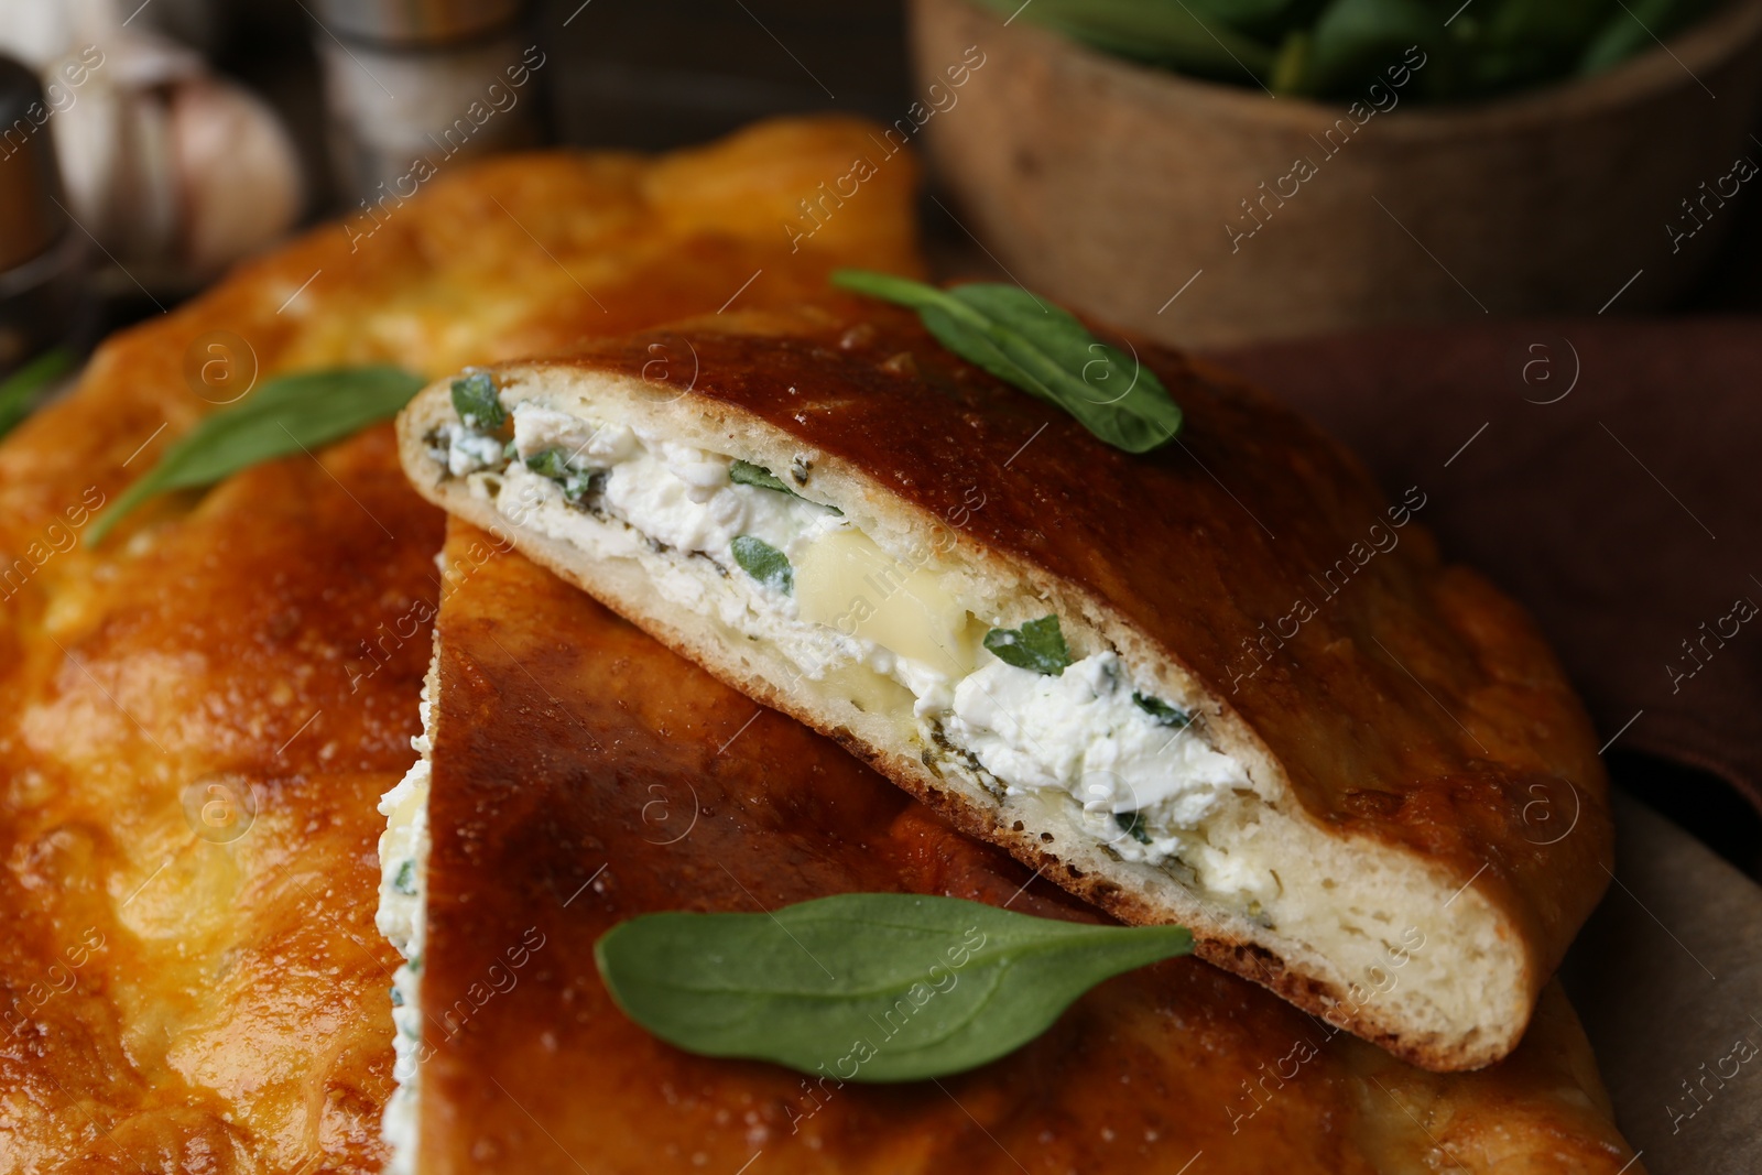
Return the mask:
<path id="1" fill-rule="evenodd" d="M 0 56 L 0 271 L 41 255 L 67 229 L 62 173 L 49 137 L 53 111 L 37 74 Z"/>

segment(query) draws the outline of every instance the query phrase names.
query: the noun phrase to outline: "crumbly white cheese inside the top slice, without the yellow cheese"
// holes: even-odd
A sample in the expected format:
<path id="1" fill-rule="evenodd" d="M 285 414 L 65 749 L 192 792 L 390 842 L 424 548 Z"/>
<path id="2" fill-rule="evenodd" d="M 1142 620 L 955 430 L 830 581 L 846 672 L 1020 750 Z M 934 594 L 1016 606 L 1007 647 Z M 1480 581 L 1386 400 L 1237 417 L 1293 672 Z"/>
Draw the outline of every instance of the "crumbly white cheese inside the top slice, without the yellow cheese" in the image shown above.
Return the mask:
<path id="1" fill-rule="evenodd" d="M 862 666 L 897 682 L 914 699 L 913 717 L 927 742 L 941 735 L 1011 794 L 1068 796 L 1080 807 L 1082 826 L 1124 860 L 1154 865 L 1179 858 L 1202 884 L 1244 902 L 1276 890 L 1263 865 L 1232 858 L 1205 837 L 1207 821 L 1218 819 L 1228 800 L 1253 791 L 1246 768 L 1195 728 L 1165 724 L 1133 701 L 1135 687 L 1117 654 L 1098 652 L 1061 675 L 1041 675 L 981 652 L 966 671 L 811 624 L 791 595 L 742 571 L 731 544 L 754 536 L 798 565 L 816 541 L 851 528 L 840 514 L 791 493 L 735 483 L 733 460 L 717 453 L 532 402 L 516 403 L 513 416 L 522 462 L 500 477 L 476 479 L 474 491 L 493 499 L 516 525 L 596 557 L 641 560 L 664 599 L 714 617 L 731 634 L 772 645 L 811 680 L 840 678 Z M 587 504 L 592 509 L 523 465 L 546 449 L 560 449 L 569 470 L 599 472 L 597 497 Z M 996 617 L 981 618 L 997 624 Z"/>

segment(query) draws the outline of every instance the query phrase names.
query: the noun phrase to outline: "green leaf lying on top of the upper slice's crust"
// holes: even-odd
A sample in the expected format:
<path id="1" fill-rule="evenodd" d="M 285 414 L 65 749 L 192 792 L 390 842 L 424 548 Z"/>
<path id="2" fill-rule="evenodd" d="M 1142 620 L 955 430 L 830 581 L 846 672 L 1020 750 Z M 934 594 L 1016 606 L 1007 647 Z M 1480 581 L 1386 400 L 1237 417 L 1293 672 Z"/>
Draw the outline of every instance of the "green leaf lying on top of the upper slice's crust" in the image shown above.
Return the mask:
<path id="1" fill-rule="evenodd" d="M 911 307 L 939 344 L 1064 409 L 1115 449 L 1149 453 L 1181 432 L 1181 409 L 1156 372 L 1025 289 L 973 282 L 943 291 L 869 270 L 839 270 L 832 284 Z"/>

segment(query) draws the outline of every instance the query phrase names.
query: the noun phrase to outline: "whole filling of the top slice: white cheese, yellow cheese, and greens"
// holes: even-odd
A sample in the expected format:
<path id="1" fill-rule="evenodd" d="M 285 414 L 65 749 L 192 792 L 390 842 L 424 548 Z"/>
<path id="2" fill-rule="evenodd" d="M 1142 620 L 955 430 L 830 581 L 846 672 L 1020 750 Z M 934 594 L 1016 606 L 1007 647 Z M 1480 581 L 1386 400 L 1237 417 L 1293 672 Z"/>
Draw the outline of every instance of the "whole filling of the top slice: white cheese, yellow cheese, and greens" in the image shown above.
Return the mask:
<path id="1" fill-rule="evenodd" d="M 1207 837 L 1255 787 L 1212 747 L 1188 699 L 1135 684 L 1114 650 L 1036 671 L 999 659 L 1003 618 L 929 565 L 885 551 L 837 509 L 735 458 L 513 405 L 511 444 L 444 425 L 430 453 L 513 523 L 596 557 L 641 560 L 668 601 L 786 657 L 811 687 L 916 726 L 927 761 L 996 796 L 1061 805 L 1128 861 L 1189 872 L 1258 914 L 1265 865 Z M 486 444 L 488 442 L 488 444 Z"/>

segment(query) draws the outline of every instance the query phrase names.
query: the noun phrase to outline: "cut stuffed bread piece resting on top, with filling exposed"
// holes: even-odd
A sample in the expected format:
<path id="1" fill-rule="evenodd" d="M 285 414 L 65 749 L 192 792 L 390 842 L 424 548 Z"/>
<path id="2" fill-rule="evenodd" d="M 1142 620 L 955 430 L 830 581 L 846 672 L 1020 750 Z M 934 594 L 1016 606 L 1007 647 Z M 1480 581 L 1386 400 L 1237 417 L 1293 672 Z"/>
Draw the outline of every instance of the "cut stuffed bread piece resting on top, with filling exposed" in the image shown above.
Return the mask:
<path id="1" fill-rule="evenodd" d="M 962 830 L 1434 1069 L 1512 1050 L 1610 856 L 1529 620 L 1316 428 L 1170 352 L 1129 456 L 890 307 L 465 372 L 446 509 Z"/>

